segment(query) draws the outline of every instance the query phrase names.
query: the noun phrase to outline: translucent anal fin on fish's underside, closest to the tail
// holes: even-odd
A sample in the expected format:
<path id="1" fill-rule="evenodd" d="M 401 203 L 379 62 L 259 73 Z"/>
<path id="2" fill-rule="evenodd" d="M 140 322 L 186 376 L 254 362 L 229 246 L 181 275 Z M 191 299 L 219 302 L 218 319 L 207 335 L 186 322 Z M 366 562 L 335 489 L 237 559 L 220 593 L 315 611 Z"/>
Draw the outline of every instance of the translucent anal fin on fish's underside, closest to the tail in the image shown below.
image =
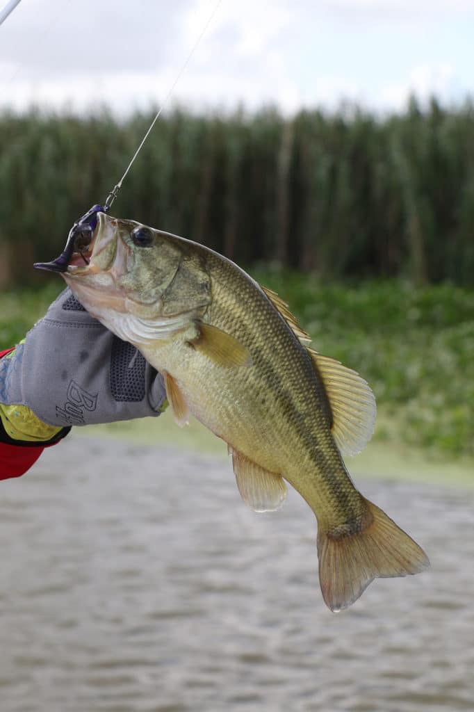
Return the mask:
<path id="1" fill-rule="evenodd" d="M 238 491 L 243 501 L 256 512 L 280 509 L 286 497 L 286 485 L 281 475 L 268 472 L 240 452 L 228 446 Z"/>

